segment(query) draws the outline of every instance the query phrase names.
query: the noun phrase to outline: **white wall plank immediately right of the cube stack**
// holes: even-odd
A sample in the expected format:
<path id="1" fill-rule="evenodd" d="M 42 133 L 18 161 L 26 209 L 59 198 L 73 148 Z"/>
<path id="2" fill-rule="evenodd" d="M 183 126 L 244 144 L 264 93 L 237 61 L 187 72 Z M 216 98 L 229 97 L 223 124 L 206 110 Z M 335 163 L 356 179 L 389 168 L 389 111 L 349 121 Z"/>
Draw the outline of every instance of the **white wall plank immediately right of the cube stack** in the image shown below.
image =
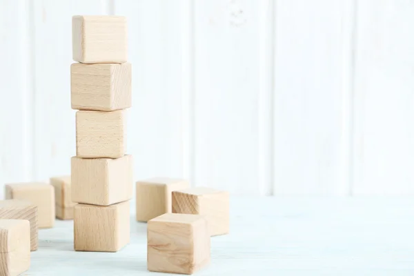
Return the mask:
<path id="1" fill-rule="evenodd" d="M 184 177 L 181 4 L 185 1 L 115 1 L 128 17 L 132 108 L 128 152 L 135 178 Z"/>

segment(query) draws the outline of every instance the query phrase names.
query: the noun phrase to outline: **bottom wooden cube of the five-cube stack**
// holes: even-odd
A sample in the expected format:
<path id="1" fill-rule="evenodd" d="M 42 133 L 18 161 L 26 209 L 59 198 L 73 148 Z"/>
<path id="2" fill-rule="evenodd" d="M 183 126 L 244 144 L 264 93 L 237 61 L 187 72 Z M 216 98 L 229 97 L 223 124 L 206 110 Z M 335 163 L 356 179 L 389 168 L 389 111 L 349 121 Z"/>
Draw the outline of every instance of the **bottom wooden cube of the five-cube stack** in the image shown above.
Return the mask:
<path id="1" fill-rule="evenodd" d="M 130 241 L 130 204 L 75 206 L 75 250 L 116 252 Z"/>

